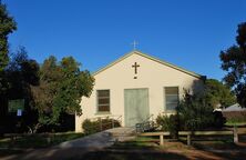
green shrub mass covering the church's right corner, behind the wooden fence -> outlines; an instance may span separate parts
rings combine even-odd
[[[213,112],[217,104],[223,107],[235,102],[230,90],[217,80],[206,80],[204,92],[191,94],[185,91],[184,99],[177,107],[177,114],[158,116],[156,123],[162,130],[170,131],[174,137],[178,130],[204,130],[222,128],[225,123],[221,112]]]

